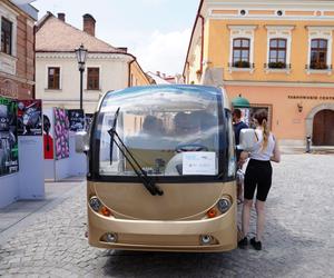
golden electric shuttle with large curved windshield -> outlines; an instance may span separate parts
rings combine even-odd
[[[224,90],[176,85],[109,91],[89,138],[91,246],[236,248],[235,146]],[[77,148],[85,149],[84,141],[78,136]]]

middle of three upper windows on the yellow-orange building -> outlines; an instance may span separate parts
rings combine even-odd
[[[269,41],[269,69],[286,68],[286,39],[271,39]]]

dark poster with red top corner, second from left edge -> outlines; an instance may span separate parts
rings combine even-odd
[[[18,101],[18,136],[41,136],[41,100]]]

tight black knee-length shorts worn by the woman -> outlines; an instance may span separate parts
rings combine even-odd
[[[272,186],[272,175],[271,161],[250,159],[245,173],[244,198],[253,200],[257,188],[256,199],[265,201]]]

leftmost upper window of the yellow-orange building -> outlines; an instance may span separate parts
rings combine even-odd
[[[233,67],[249,68],[249,39],[237,38],[233,40]]]

